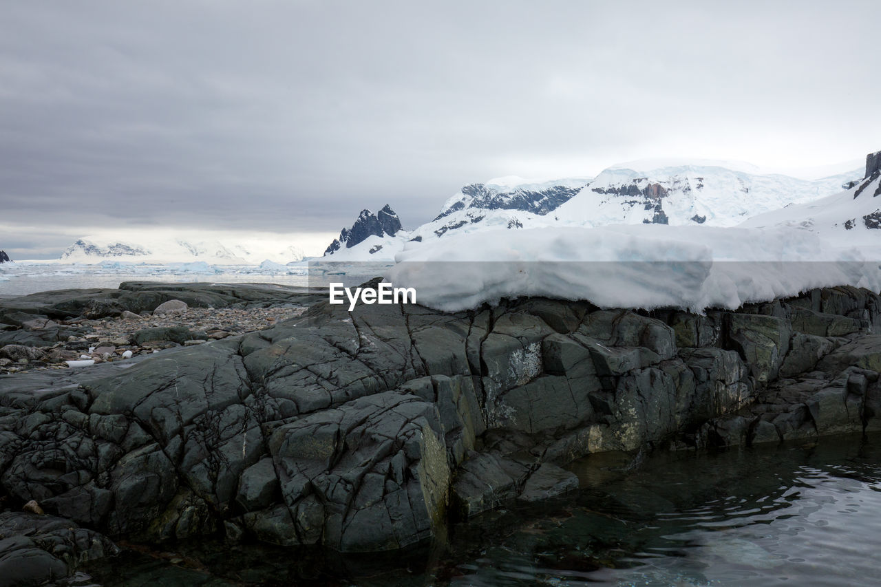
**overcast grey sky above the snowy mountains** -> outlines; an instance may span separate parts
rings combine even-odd
[[[881,3],[0,0],[0,249],[405,228],[463,185],[881,149]],[[148,238],[148,237],[143,237]]]

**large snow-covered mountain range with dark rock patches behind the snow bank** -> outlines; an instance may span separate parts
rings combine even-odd
[[[746,163],[713,160],[634,161],[593,178],[503,177],[465,186],[448,198],[435,219],[411,231],[374,231],[362,241],[350,241],[346,249],[331,243],[325,255],[346,261],[392,260],[413,246],[408,242],[428,245],[454,234],[500,228],[733,227],[765,212],[836,193],[861,177],[862,170],[856,168],[804,180],[768,174]]]

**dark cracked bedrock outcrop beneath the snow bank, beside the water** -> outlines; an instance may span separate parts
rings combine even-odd
[[[0,379],[0,483],[114,538],[391,550],[577,487],[593,452],[881,429],[879,310],[852,287],[706,316],[322,302],[79,386]]]

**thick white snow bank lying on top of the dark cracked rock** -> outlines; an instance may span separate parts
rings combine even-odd
[[[792,227],[662,225],[495,230],[411,247],[385,271],[446,311],[501,298],[588,300],[601,308],[740,307],[813,287],[881,289],[876,261]]]

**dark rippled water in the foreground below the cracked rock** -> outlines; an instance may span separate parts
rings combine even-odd
[[[881,583],[881,436],[630,460],[586,458],[572,466],[580,491],[488,512],[403,554],[203,541],[102,562],[78,584]]]

